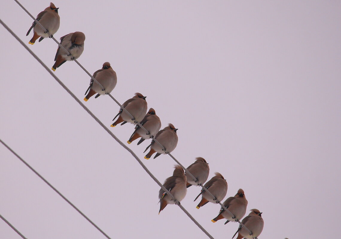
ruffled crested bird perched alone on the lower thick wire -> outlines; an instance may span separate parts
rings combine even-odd
[[[180,165],[175,165],[173,176],[168,177],[163,186],[173,195],[175,200],[180,202],[187,193],[186,175]],[[160,212],[167,206],[167,204],[175,204],[175,201],[161,188],[159,191]]]

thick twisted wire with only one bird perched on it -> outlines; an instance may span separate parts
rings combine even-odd
[[[16,1],[16,0],[15,0]],[[80,104],[81,107],[83,107],[86,112],[91,115],[92,118],[95,119],[102,127],[103,129],[110,134],[123,148],[128,150],[134,158],[138,161],[138,163],[143,167],[143,169],[149,174],[149,176],[172,198],[172,200],[185,212],[185,214],[211,239],[214,239],[206,230],[205,228],[200,225],[193,216],[180,204],[179,201],[177,201],[174,196],[157,180],[157,178],[147,169],[147,167],[142,163],[142,161],[137,157],[137,155],[125,144],[123,144],[78,98],[61,82],[55,74],[53,74],[49,68],[41,61],[41,59],[35,55],[25,44],[21,39],[0,19],[0,23],[6,28],[19,42],[21,45],[25,47],[25,49],[53,76],[53,78],[74,98],[78,104]]]

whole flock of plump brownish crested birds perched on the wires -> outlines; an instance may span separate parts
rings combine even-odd
[[[53,3],[50,3],[49,7],[46,7],[44,11],[38,14],[36,20],[39,21],[47,31],[44,31],[39,24],[36,24],[34,21],[26,35],[28,36],[33,29],[34,34],[32,39],[29,41],[29,44],[33,45],[39,37],[39,42],[44,38],[49,37],[48,33],[53,35],[57,32],[60,24],[58,9],[59,8]],[[52,70],[55,71],[66,61],[73,61],[74,59],[77,59],[83,53],[84,41],[85,35],[83,32],[73,32],[62,36],[60,38],[60,44],[67,51],[69,51],[71,55],[68,55],[63,49],[58,47],[55,56],[55,64],[53,65]],[[93,74],[93,78],[95,78],[105,90],[103,90],[98,83],[91,79],[90,86],[85,92],[85,94],[87,94],[84,98],[85,101],[88,101],[90,97],[96,93],[97,95],[95,98],[99,97],[100,95],[110,93],[115,88],[117,83],[116,72],[110,66],[109,62],[105,62],[102,69],[97,70]],[[149,152],[145,156],[145,159],[149,159],[154,153],[156,153],[154,156],[154,158],[156,158],[160,154],[168,154],[175,149],[178,143],[178,136],[176,134],[178,129],[176,129],[173,124],[169,123],[167,127],[165,127],[163,130],[160,130],[161,121],[156,115],[155,110],[150,108],[147,112],[146,96],[143,96],[141,93],[135,93],[135,96],[125,101],[122,104],[122,107],[125,108],[134,117],[134,119],[132,119],[122,108],[120,108],[119,113],[115,116],[113,121],[116,119],[116,117],[118,118],[112,125],[110,125],[111,127],[115,127],[119,123],[123,125],[129,122],[136,125],[136,122],[140,122],[140,124],[143,125],[143,127],[149,132],[149,134],[147,134],[139,125],[136,125],[134,133],[128,140],[128,144],[140,138],[137,143],[137,145],[139,145],[145,139],[149,139],[151,136],[155,135],[154,138],[157,139],[157,141],[164,148],[163,149],[158,143],[155,143],[153,139],[144,151],[146,152],[150,148]],[[207,181],[209,166],[204,158],[197,157],[195,162],[187,168],[187,171],[191,173],[196,180],[192,179],[190,176],[187,176],[187,173],[184,173],[182,167],[176,165],[173,176],[168,177],[163,184],[163,186],[170,193],[172,193],[174,198],[179,202],[185,197],[188,187],[192,185],[200,186]],[[201,201],[196,206],[197,209],[204,206],[208,202],[217,203],[222,201],[227,193],[227,182],[223,175],[218,172],[216,172],[215,176],[205,183],[204,187],[209,189],[210,193],[214,195],[215,198],[212,198],[204,189],[202,189],[194,200],[196,201],[200,195],[202,196]],[[167,204],[175,204],[173,199],[167,195],[162,188],[159,191],[159,199],[159,214],[167,206]],[[234,217],[232,217],[227,211],[225,211],[225,209],[223,209],[223,207],[221,207],[218,216],[212,219],[212,222],[217,222],[220,219],[226,219],[226,224],[229,221],[240,220],[246,213],[248,201],[245,198],[244,191],[239,189],[236,195],[226,199],[223,205],[234,215]],[[245,217],[241,223],[252,232],[252,235],[250,235],[244,227],[239,225],[239,228],[235,233],[235,235],[238,233],[237,239],[251,239],[258,237],[261,234],[264,226],[262,212],[260,212],[258,209],[251,209],[250,214]],[[234,238],[235,235],[232,238]]]

